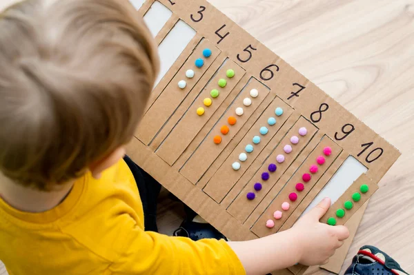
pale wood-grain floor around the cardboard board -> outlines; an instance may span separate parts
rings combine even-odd
[[[365,244],[414,274],[414,0],[210,2],[402,152],[368,205],[342,274]],[[184,214],[166,192],[160,201],[159,229],[171,234]]]

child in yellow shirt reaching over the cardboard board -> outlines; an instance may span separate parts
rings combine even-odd
[[[124,145],[159,64],[128,1],[26,0],[0,16],[0,260],[9,274],[266,274],[326,263],[348,238],[319,223],[253,241],[144,231]]]

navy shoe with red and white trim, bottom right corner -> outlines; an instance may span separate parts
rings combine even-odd
[[[359,249],[345,275],[408,275],[393,258],[377,247]]]

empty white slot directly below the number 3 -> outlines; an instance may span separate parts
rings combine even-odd
[[[174,28],[168,32],[166,38],[158,46],[161,69],[155,81],[155,86],[157,86],[159,81],[170,70],[172,64],[178,59],[191,39],[195,37],[195,34],[195,30],[182,20],[179,20]]]

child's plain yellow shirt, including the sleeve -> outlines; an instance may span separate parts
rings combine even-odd
[[[144,232],[124,161],[99,180],[83,176],[47,212],[20,212],[0,200],[0,260],[10,275],[245,274],[225,241]]]

